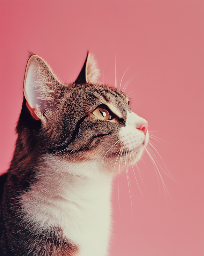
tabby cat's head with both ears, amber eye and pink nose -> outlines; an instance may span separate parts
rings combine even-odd
[[[130,109],[127,95],[99,82],[90,53],[71,84],[60,82],[42,58],[32,55],[23,92],[17,131],[39,156],[97,162],[112,172],[134,164],[147,145],[148,122]]]

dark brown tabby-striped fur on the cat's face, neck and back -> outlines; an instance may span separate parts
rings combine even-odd
[[[37,63],[42,60],[33,56]],[[19,196],[35,182],[41,157],[58,154],[67,160],[81,162],[97,159],[116,142],[119,127],[125,126],[127,97],[108,86],[87,84],[85,64],[73,84],[60,83],[52,71],[45,67],[51,91],[48,108],[42,120],[35,120],[24,97],[16,131],[18,139],[6,176],[2,177],[4,192],[1,206],[0,255],[4,256],[74,256],[78,247],[63,238],[62,230],[44,230],[38,234],[35,228],[22,220]],[[92,112],[100,104],[118,102],[122,117],[104,122],[93,118]],[[126,109],[123,105],[126,104]],[[113,136],[110,136],[113,135]],[[120,148],[116,146],[115,151]],[[94,153],[93,153],[94,152]],[[113,152],[108,153],[109,155]],[[113,156],[114,157],[114,156]],[[6,181],[5,181],[6,179]],[[4,184],[5,182],[5,184]],[[35,232],[36,231],[36,232]]]

